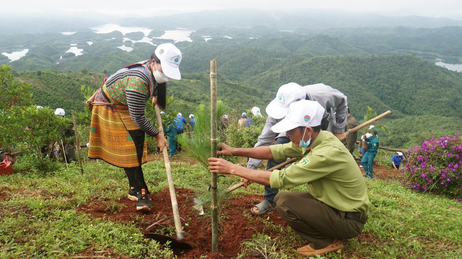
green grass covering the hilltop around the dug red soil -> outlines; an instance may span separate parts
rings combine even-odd
[[[210,175],[199,165],[171,163],[177,187],[206,193]],[[148,241],[137,224],[120,223],[80,213],[79,205],[91,199],[108,198],[109,211],[126,195],[128,181],[122,169],[104,162],[87,162],[85,173],[73,164],[51,173],[25,171],[1,176],[0,190],[0,258],[77,258],[105,256],[112,258],[172,258],[170,250]],[[143,166],[146,181],[156,193],[168,186],[162,161]],[[219,177],[223,190],[237,177]],[[345,253],[328,258],[462,258],[462,204],[431,194],[415,193],[397,182],[366,180],[371,201],[370,220],[363,234],[346,242]],[[8,189],[5,189],[8,188]],[[300,186],[292,191],[306,190]],[[231,193],[263,193],[252,184]],[[114,202],[111,202],[114,201]],[[243,217],[252,220],[248,211]],[[269,237],[263,233],[242,245],[241,258],[297,258],[295,249],[304,242],[292,231],[273,223],[265,229],[280,233]]]

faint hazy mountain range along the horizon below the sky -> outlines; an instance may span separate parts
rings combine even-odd
[[[252,27],[265,25],[278,30],[325,30],[332,27],[395,27],[437,28],[462,26],[461,20],[422,16],[383,16],[373,13],[341,12],[332,10],[262,11],[249,9],[227,9],[174,14],[166,17],[118,18],[93,12],[85,18],[59,17],[33,18],[0,17],[1,33],[46,33],[76,31],[105,23],[123,26],[142,26],[151,29],[172,29],[176,27],[201,28],[213,26]],[[88,18],[91,16],[91,18]]]

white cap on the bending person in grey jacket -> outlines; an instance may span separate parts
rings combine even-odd
[[[266,113],[274,119],[283,118],[289,110],[289,105],[292,102],[304,100],[305,96],[306,91],[301,85],[296,83],[284,84],[279,88],[276,98],[266,107]]]

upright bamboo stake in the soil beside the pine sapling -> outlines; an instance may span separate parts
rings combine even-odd
[[[217,156],[217,60],[210,60],[210,131],[212,141],[213,157]],[[212,194],[212,202],[210,208],[212,210],[212,252],[218,251],[218,201],[217,201],[217,175],[210,173],[210,190]]]

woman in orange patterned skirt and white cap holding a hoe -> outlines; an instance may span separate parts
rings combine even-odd
[[[137,211],[152,208],[141,168],[147,162],[146,134],[156,138],[160,150],[168,147],[164,134],[146,118],[146,101],[152,97],[152,106],[165,109],[165,83],[181,78],[181,59],[175,45],[159,44],[149,60],[112,74],[88,100],[92,105],[88,157],[125,170],[130,185],[128,199],[137,201]]]

